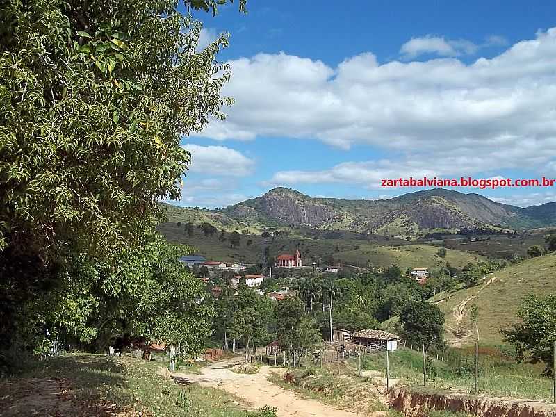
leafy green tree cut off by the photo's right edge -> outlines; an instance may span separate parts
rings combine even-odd
[[[556,295],[530,295],[518,309],[523,320],[504,331],[505,341],[516,348],[520,360],[543,362],[553,372],[553,341],[556,340]]]

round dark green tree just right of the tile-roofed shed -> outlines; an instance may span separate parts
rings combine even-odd
[[[404,338],[413,345],[430,347],[443,346],[444,315],[439,307],[428,302],[411,302],[400,314]]]

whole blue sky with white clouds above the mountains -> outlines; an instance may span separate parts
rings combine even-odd
[[[382,178],[556,178],[556,3],[254,1],[204,22],[231,33],[224,122],[183,138],[180,205],[220,207],[274,186],[389,198]],[[555,201],[554,188],[477,190]]]

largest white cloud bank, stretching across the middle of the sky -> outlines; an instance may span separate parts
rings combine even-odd
[[[258,54],[230,61],[224,94],[236,105],[203,135],[312,138],[340,149],[364,143],[401,154],[391,161],[401,172],[407,164],[454,174],[541,170],[556,163],[555,61],[556,28],[469,65],[455,58],[380,64],[366,53],[333,68],[284,53]],[[336,180],[340,170],[325,177]]]

